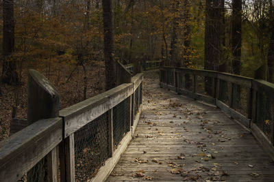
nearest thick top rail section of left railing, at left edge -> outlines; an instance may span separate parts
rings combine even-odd
[[[62,119],[42,119],[0,142],[0,181],[16,181],[62,140]]]

